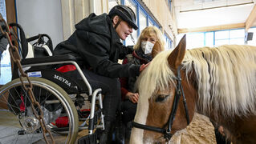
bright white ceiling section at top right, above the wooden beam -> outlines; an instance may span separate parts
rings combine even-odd
[[[173,0],[173,3],[178,30],[241,26],[239,24],[245,24],[252,10],[256,10],[255,0]]]

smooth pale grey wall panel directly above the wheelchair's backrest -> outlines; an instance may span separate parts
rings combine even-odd
[[[63,41],[61,0],[16,0],[17,19],[26,37],[48,34],[54,47]]]

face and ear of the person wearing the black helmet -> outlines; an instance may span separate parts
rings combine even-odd
[[[116,26],[119,19],[120,18],[118,16],[113,18],[114,26]],[[121,20],[120,24],[116,27],[116,33],[118,34],[119,38],[125,40],[128,35],[132,34],[132,26],[129,26],[128,22]]]

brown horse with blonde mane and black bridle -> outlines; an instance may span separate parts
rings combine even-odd
[[[168,143],[195,112],[223,126],[234,144],[256,143],[256,46],[186,50],[185,39],[140,74],[130,143]]]

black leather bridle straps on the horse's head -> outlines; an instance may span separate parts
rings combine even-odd
[[[164,138],[165,140],[168,142],[173,134],[171,134],[171,130],[172,130],[172,126],[173,126],[173,121],[177,112],[177,106],[178,103],[180,101],[181,95],[183,96],[183,104],[185,107],[185,116],[187,119],[187,125],[189,125],[189,110],[188,110],[188,106],[187,106],[187,102],[186,102],[186,98],[185,98],[185,94],[181,85],[181,66],[178,66],[177,68],[177,89],[175,92],[175,96],[174,96],[174,100],[173,100],[173,107],[172,107],[172,111],[171,114],[169,116],[169,121],[165,124],[165,126],[167,126],[167,128],[160,128],[160,127],[155,127],[155,126],[147,126],[147,125],[143,125],[137,122],[132,122],[132,127],[136,127],[139,129],[144,129],[144,130],[151,130],[151,131],[155,131],[161,134],[164,134]]]

